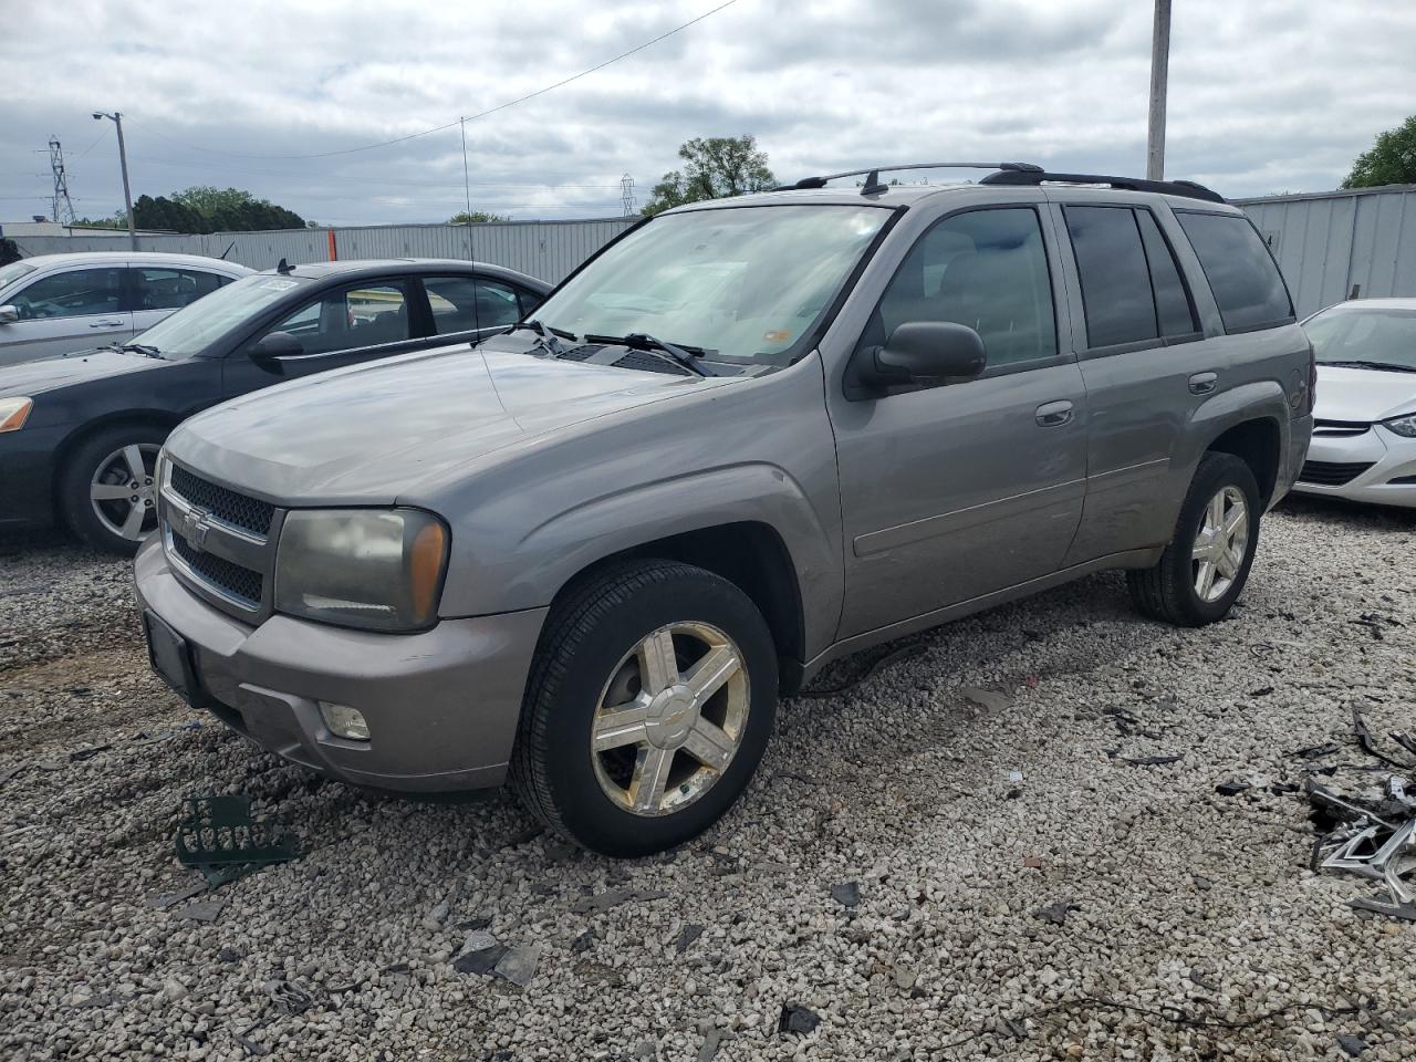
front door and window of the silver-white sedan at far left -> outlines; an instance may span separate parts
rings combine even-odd
[[[10,296],[20,319],[0,326],[0,364],[119,343],[133,334],[123,266],[45,273]]]

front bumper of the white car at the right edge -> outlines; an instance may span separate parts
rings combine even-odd
[[[1359,435],[1314,435],[1304,472],[1293,490],[1378,506],[1416,507],[1416,439],[1381,425]]]

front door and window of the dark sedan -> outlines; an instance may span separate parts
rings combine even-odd
[[[224,387],[239,395],[282,379],[406,354],[432,343],[416,279],[398,276],[326,289],[269,327],[258,330],[225,360]],[[253,358],[272,331],[300,340],[299,354]]]

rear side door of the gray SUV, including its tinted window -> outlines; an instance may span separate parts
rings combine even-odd
[[[1054,197],[1092,413],[1072,565],[1170,541],[1191,473],[1181,443],[1214,382],[1215,350],[1164,204]]]

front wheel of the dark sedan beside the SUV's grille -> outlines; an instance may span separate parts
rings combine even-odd
[[[157,453],[167,430],[115,425],[78,445],[59,473],[69,528],[95,549],[132,556],[157,527]]]

